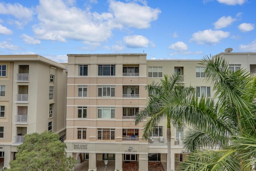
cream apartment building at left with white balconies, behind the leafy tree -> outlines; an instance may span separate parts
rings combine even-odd
[[[0,55],[0,160],[15,158],[25,134],[66,136],[66,68],[40,55]],[[2,164],[2,163],[1,163]]]

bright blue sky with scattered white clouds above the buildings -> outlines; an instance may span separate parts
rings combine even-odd
[[[0,0],[0,55],[256,52],[256,0]]]

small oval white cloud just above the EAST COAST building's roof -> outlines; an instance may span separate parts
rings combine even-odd
[[[127,47],[140,48],[148,47],[149,40],[142,35],[124,36],[124,43]]]

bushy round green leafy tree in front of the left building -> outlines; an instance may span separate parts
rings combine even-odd
[[[10,171],[74,171],[77,161],[67,157],[65,149],[54,132],[26,134],[16,159],[10,162]]]

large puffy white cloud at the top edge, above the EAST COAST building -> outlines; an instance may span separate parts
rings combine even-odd
[[[150,22],[157,20],[161,10],[150,8],[149,6],[141,6],[130,2],[108,1],[110,12],[114,13],[115,22],[124,26],[145,29],[150,27]]]

